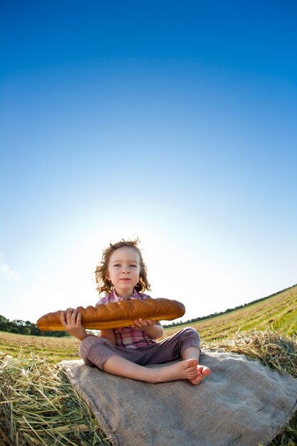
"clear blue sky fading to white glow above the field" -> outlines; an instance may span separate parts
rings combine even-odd
[[[297,283],[296,1],[1,1],[0,314],[137,234],[184,320]]]

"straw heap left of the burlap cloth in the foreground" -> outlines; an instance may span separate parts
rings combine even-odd
[[[0,445],[110,445],[60,365],[0,353]]]

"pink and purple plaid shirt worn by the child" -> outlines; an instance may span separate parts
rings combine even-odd
[[[138,301],[143,301],[143,299],[152,299],[147,294],[138,293],[135,289],[133,291],[132,296],[129,299],[137,299]],[[123,301],[123,297],[118,296],[115,291],[111,291],[110,294],[104,296],[98,304],[110,304],[110,302],[119,302]],[[145,333],[142,330],[135,330],[132,327],[124,327],[124,328],[115,328],[113,330],[115,333],[115,344],[119,347],[125,348],[139,348],[145,347],[150,344],[154,344],[157,341]]]

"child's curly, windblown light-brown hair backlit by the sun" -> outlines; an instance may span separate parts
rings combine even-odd
[[[150,291],[150,283],[147,280],[147,266],[143,261],[140,249],[137,247],[137,244],[139,243],[140,239],[138,239],[138,237],[136,240],[121,239],[120,242],[114,244],[110,243],[108,248],[103,249],[101,262],[100,264],[97,265],[97,268],[95,269],[95,281],[98,284],[96,290],[99,291],[99,294],[103,293],[104,291],[106,293],[110,293],[110,291],[112,291],[115,288],[112,282],[108,280],[108,278],[106,277],[106,274],[108,273],[108,263],[110,261],[111,254],[113,254],[113,252],[115,252],[116,249],[123,247],[129,247],[135,249],[138,255],[140,256],[140,276],[139,276],[139,281],[135,286],[136,291],[140,293],[145,290]]]

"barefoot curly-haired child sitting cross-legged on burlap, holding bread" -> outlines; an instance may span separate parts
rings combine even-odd
[[[108,293],[98,304],[118,302],[123,299],[151,299],[142,291],[150,290],[147,268],[137,247],[139,240],[110,244],[103,251],[101,264],[95,271],[98,291]],[[100,370],[147,383],[187,379],[199,384],[211,372],[199,365],[200,338],[194,328],[183,328],[160,343],[163,328],[160,322],[138,319],[132,327],[105,329],[100,336],[89,334],[81,325],[77,310],[68,308],[61,313],[61,322],[71,335],[80,339],[80,357],[87,365]],[[181,358],[182,361],[160,368],[144,365],[160,364]]]

